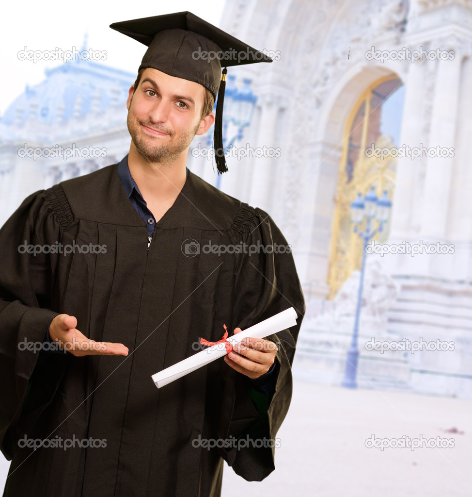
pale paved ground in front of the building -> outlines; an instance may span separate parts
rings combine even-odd
[[[464,433],[443,430],[456,427]],[[453,448],[366,448],[371,438],[453,438]],[[350,391],[297,381],[275,471],[246,482],[226,467],[223,497],[470,497],[472,401]],[[0,488],[8,462],[0,463]]]

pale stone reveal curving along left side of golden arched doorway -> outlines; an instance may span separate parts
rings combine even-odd
[[[315,130],[318,139],[312,144],[309,158],[313,168],[311,184],[305,188],[303,200],[305,209],[314,213],[303,234],[303,247],[309,251],[304,267],[305,280],[313,282],[311,288],[308,285],[307,293],[314,297],[326,298],[331,293],[329,268],[336,238],[337,197],[339,185],[343,181],[340,164],[344,160],[343,151],[353,109],[356,105],[358,107],[369,88],[391,78],[398,76],[390,68],[359,64],[342,75],[324,101],[321,119]],[[364,164],[364,167],[372,170],[375,164],[371,161],[370,165]],[[349,264],[352,266],[351,262]],[[349,274],[344,275],[342,281]]]

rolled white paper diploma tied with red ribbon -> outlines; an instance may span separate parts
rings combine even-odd
[[[296,324],[297,313],[293,307],[290,307],[285,311],[275,314],[275,316],[261,321],[261,323],[258,323],[257,325],[250,326],[249,328],[246,328],[246,330],[229,336],[227,341],[234,346],[236,343],[240,343],[243,338],[265,338],[266,336],[277,333],[278,331],[286,330]],[[211,345],[205,350],[187,357],[187,359],[184,359],[173,366],[169,366],[168,368],[159,371],[159,373],[153,374],[151,377],[152,381],[157,388],[172,383],[174,380],[182,378],[182,376],[226,355],[226,348],[224,345],[224,343]]]

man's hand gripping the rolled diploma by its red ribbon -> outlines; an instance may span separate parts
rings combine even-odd
[[[234,334],[240,331],[241,328],[236,328]],[[226,364],[255,380],[270,370],[278,349],[270,340],[244,338],[241,343],[233,346],[233,350],[224,356]]]

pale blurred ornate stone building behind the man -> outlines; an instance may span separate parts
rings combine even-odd
[[[374,186],[393,202],[376,242],[423,248],[368,256],[359,385],[471,398],[472,1],[237,0],[227,3],[221,27],[274,58],[228,73],[240,87],[250,79],[257,96],[235,145],[279,148],[280,157],[228,158],[221,189],[270,213],[292,245],[307,300],[295,374],[341,381],[362,256],[349,206]],[[433,59],[432,51],[448,56]],[[27,194],[124,157],[134,79],[70,61],[12,103],[0,122],[1,222]],[[106,153],[33,160],[19,157],[25,143]],[[197,137],[199,145],[207,137]],[[453,153],[369,152],[406,146]],[[188,164],[215,183],[209,161],[191,153]],[[453,251],[426,253],[437,244]],[[364,345],[373,337],[453,342],[453,350],[380,353]]]

